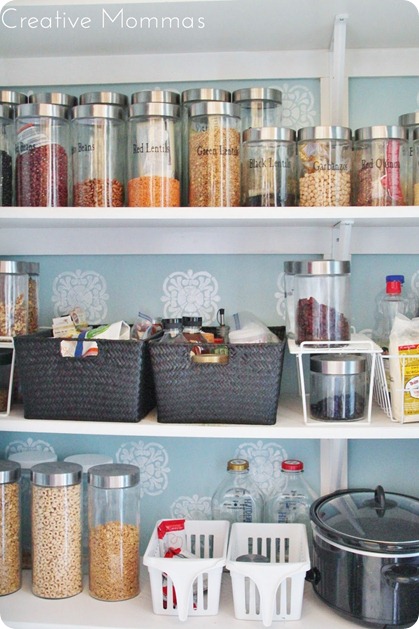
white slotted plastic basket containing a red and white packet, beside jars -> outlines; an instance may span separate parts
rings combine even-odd
[[[160,556],[157,522],[144,554],[150,575],[155,614],[211,616],[218,613],[230,523],[225,520],[186,520],[185,550],[197,559]]]

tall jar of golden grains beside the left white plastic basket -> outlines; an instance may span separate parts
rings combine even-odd
[[[124,601],[140,591],[140,470],[95,465],[88,471],[89,591]]]

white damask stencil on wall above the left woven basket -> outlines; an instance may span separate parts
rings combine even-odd
[[[109,299],[105,278],[96,271],[65,271],[52,286],[52,303],[56,316],[68,314],[79,307],[91,324],[106,321]]]

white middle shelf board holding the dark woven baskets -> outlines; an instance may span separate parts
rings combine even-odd
[[[371,423],[328,422],[304,423],[299,398],[280,396],[277,421],[260,424],[166,424],[157,421],[152,411],[138,423],[89,422],[69,420],[24,419],[22,409],[12,409],[0,418],[0,432],[55,433],[73,435],[185,437],[236,439],[418,439],[419,423],[400,424],[391,421],[374,406]]]

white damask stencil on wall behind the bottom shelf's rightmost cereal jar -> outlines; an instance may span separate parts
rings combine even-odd
[[[160,443],[129,441],[116,453],[118,463],[129,463],[140,468],[141,496],[159,496],[168,485],[169,456]]]

